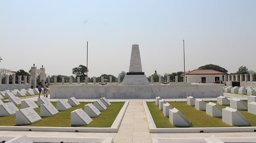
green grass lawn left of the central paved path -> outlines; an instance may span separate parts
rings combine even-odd
[[[56,107],[56,102],[51,103]],[[57,115],[43,117],[41,121],[22,126],[71,127],[71,112],[79,108],[84,110],[84,105],[88,103],[91,102],[80,102],[80,105],[77,107],[72,107],[66,111],[59,111]],[[77,127],[111,127],[124,103],[125,102],[111,102],[111,106],[108,107],[106,111],[101,111],[101,115],[99,115],[99,117],[92,118],[93,121],[89,125]],[[17,105],[16,107],[18,109],[21,108],[20,105]],[[35,109],[35,111],[40,115],[40,107]],[[15,126],[15,115],[0,117],[0,126]]]

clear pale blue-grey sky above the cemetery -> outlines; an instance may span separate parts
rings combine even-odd
[[[0,68],[52,75],[128,72],[139,44],[146,76],[217,64],[256,70],[256,0],[0,0]]]

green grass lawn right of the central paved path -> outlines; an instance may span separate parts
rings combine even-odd
[[[217,103],[217,101],[212,101],[213,103]],[[222,122],[222,118],[220,117],[212,117],[207,115],[205,111],[199,111],[195,109],[195,106],[189,106],[184,102],[168,102],[172,107],[178,109],[191,123],[191,127],[232,127],[224,122]],[[209,101],[206,101],[209,103]],[[247,101],[244,101],[247,104]],[[154,123],[157,128],[177,128],[177,127],[187,127],[187,126],[173,126],[172,123],[169,122],[169,117],[165,117],[163,115],[163,111],[161,111],[155,102],[147,102],[148,109],[151,112]],[[219,105],[221,108],[226,108],[229,106]],[[244,115],[247,120],[250,121],[251,126],[256,126],[256,115],[248,113],[246,111],[239,110],[241,114]],[[190,126],[189,126],[190,127]]]

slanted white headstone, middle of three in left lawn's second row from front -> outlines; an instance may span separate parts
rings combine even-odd
[[[52,103],[45,103],[40,105],[41,117],[49,117],[58,114],[58,110],[52,105]]]

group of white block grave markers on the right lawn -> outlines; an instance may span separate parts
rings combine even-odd
[[[227,105],[227,98],[220,96],[217,99],[218,104],[222,104],[225,101]],[[248,97],[248,112],[256,115],[256,96]],[[229,100],[228,100],[229,101]],[[229,102],[228,102],[229,103]],[[249,126],[250,121],[248,121],[239,111],[239,108],[244,107],[244,102],[239,99],[230,100],[232,106],[221,109],[217,104],[209,102],[206,104],[202,99],[195,99],[192,96],[187,97],[187,104],[190,106],[195,106],[195,109],[205,110],[206,113],[212,117],[222,117],[222,121],[232,126]],[[173,126],[192,126],[192,123],[176,108],[172,107],[164,99],[159,96],[156,97],[156,105],[159,106],[160,110],[163,110],[163,115],[169,117],[169,121]],[[229,104],[228,104],[229,105]],[[246,105],[245,105],[246,106]],[[247,106],[246,106],[247,107]]]

